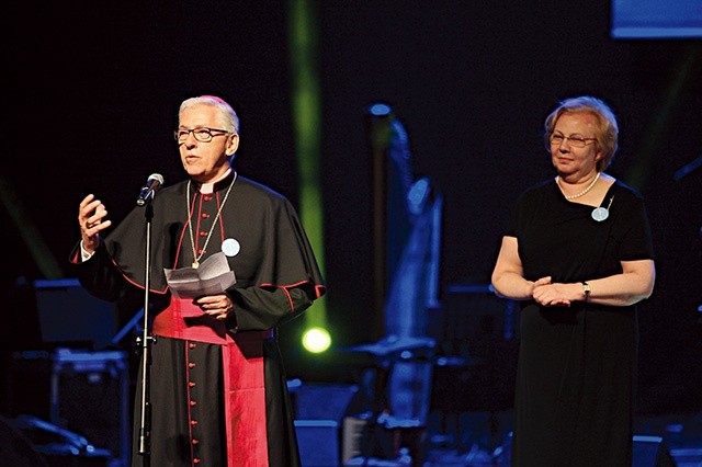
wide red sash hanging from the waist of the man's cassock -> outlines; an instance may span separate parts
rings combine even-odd
[[[185,318],[197,318],[191,324]],[[191,321],[192,322],[192,321]],[[191,299],[171,298],[154,319],[156,335],[222,345],[228,467],[268,467],[263,340],[272,331],[227,331]]]

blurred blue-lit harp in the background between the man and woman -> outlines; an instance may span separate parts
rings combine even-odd
[[[373,312],[384,335],[353,351],[375,361],[370,431],[401,437],[394,444],[417,460],[419,446],[412,440],[427,428],[432,389],[435,342],[429,314],[439,307],[443,198],[429,178],[415,176],[407,132],[388,105],[369,106],[366,132],[373,180]],[[364,445],[359,452],[373,455],[373,442]],[[381,451],[388,458],[399,454],[387,445]]]

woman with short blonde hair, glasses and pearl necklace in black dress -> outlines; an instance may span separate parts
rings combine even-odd
[[[618,123],[592,96],[545,121],[557,175],[517,202],[492,272],[521,300],[514,466],[632,463],[637,319],[655,282],[641,195],[604,173]]]

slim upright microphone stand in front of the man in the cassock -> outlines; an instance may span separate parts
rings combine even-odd
[[[151,436],[151,402],[149,397],[150,386],[150,343],[155,340],[149,335],[149,287],[150,287],[150,258],[151,258],[151,219],[154,207],[145,204],[144,217],[146,218],[146,251],[145,251],[145,278],[144,278],[144,329],[138,339],[141,346],[141,419],[139,425],[138,453],[143,458],[144,467],[150,465],[150,436]]]

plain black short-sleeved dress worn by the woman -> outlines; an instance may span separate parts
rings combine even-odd
[[[609,217],[597,221],[553,180],[526,191],[507,231],[524,277],[589,281],[653,259],[642,197],[618,181],[601,206]],[[635,306],[522,303],[512,465],[631,465],[637,332]]]

